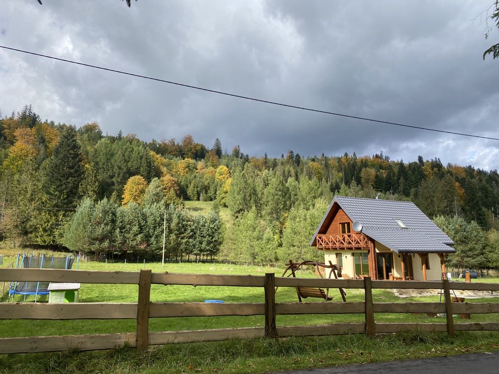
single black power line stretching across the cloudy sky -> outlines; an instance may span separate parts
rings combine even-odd
[[[415,126],[415,125],[405,125],[405,124],[401,124],[401,123],[397,123],[397,122],[381,121],[381,120],[375,120],[373,118],[359,117],[359,116],[353,116],[353,115],[349,115],[349,114],[328,112],[328,111],[325,111],[325,110],[312,109],[312,108],[300,107],[300,106],[296,106],[296,105],[278,103],[278,102],[275,102],[275,101],[262,100],[262,99],[257,99],[257,98],[254,98],[254,97],[242,96],[242,95],[232,94],[232,93],[228,93],[228,92],[224,92],[224,91],[211,90],[211,89],[208,89],[208,88],[203,88],[203,87],[198,87],[198,86],[192,86],[192,85],[189,85],[189,84],[184,84],[184,83],[179,83],[179,82],[173,82],[173,81],[169,81],[169,80],[165,80],[165,79],[148,77],[146,75],[128,73],[126,71],[121,71],[121,70],[116,70],[116,69],[110,69],[110,68],[107,68],[107,67],[85,64],[85,63],[82,63],[82,62],[67,60],[67,59],[64,59],[64,58],[53,57],[53,56],[48,56],[48,55],[45,55],[45,54],[40,54],[40,53],[25,51],[25,50],[22,50],[22,49],[16,49],[16,48],[11,48],[11,47],[6,47],[4,45],[0,45],[0,48],[9,49],[9,50],[16,51],[16,52],[27,53],[27,54],[31,54],[31,55],[34,55],[34,56],[49,58],[49,59],[52,59],[52,60],[68,62],[68,63],[75,64],[75,65],[81,65],[81,66],[91,67],[91,68],[94,68],[94,69],[111,71],[113,73],[130,75],[132,77],[154,80],[154,81],[157,81],[157,82],[173,84],[173,85],[176,85],[176,86],[181,86],[181,87],[186,87],[186,88],[192,88],[192,89],[195,89],[195,90],[216,93],[216,94],[219,94],[219,95],[236,97],[236,98],[239,98],[239,99],[256,101],[256,102],[259,102],[259,103],[277,105],[277,106],[286,107],[286,108],[300,109],[300,110],[305,110],[305,111],[308,111],[308,112],[329,114],[329,115],[333,115],[333,116],[346,117],[346,118],[352,118],[352,119],[357,119],[357,120],[362,120],[362,121],[369,121],[369,122],[376,122],[376,123],[383,123],[383,124],[386,124],[386,125],[408,127],[408,128],[412,128],[412,129],[418,129],[418,130],[434,131],[434,132],[437,132],[437,133],[467,136],[467,137],[471,137],[471,138],[499,140],[499,138],[492,138],[492,137],[488,137],[488,136],[480,136],[480,135],[474,135],[474,134],[465,134],[465,133],[458,133],[458,132],[454,132],[454,131],[446,131],[446,130],[439,130],[439,129],[430,129],[428,127],[421,127],[421,126]]]

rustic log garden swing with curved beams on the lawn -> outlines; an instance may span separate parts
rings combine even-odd
[[[296,278],[296,271],[302,266],[313,266],[315,268],[315,273],[320,275],[321,278],[324,278],[326,274],[326,269],[329,270],[328,279],[331,279],[331,275],[334,275],[335,279],[341,277],[341,266],[337,264],[331,263],[329,261],[329,265],[323,264],[317,261],[301,261],[301,262],[293,262],[289,260],[289,264],[286,266],[286,270],[282,273],[282,276],[285,276],[288,270],[291,270],[291,274],[288,274],[287,277],[292,276]],[[324,273],[324,276],[322,275]],[[342,288],[338,288],[340,291],[341,298],[344,302],[346,302],[346,292]],[[277,290],[277,287],[275,288]],[[319,299],[324,299],[325,301],[332,300],[332,296],[329,296],[329,288],[326,288],[325,292],[322,288],[314,288],[314,287],[296,287],[296,294],[298,295],[298,301],[301,303],[301,299],[306,299],[308,297],[316,297]]]

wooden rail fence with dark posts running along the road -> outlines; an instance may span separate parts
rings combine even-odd
[[[273,273],[251,275],[199,275],[139,272],[104,272],[51,269],[0,269],[2,281],[52,281],[75,283],[137,284],[137,303],[0,303],[0,319],[134,319],[136,333],[1,338],[0,354],[52,352],[64,350],[99,350],[123,345],[147,350],[148,345],[248,339],[256,337],[320,336],[396,333],[403,330],[447,332],[479,330],[499,331],[499,323],[459,323],[453,313],[499,313],[499,303],[454,303],[451,290],[499,291],[499,284],[382,281],[353,279],[281,278]],[[263,303],[151,303],[151,284],[263,287]],[[364,302],[276,303],[275,287],[329,287],[363,289]],[[373,289],[442,289],[445,303],[374,303]],[[321,326],[276,326],[276,315],[345,314],[365,315],[365,323],[336,323]],[[447,323],[376,323],[375,313],[445,313]],[[264,315],[265,326],[237,329],[149,332],[149,318],[199,316]]]

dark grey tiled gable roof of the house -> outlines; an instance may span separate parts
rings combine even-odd
[[[413,202],[360,197],[335,196],[310,245],[334,203],[345,211],[352,221],[362,224],[362,232],[400,252],[455,252],[454,242]],[[407,228],[401,228],[400,219]]]

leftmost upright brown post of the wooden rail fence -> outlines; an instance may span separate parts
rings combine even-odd
[[[151,270],[141,270],[139,275],[139,300],[137,302],[137,352],[147,351],[149,345],[149,300],[151,294]]]

